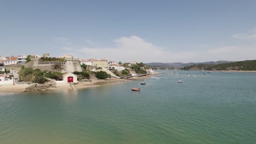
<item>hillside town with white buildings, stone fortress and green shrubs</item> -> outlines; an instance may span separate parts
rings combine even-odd
[[[135,61],[121,63],[107,59],[79,59],[71,55],[0,56],[0,85],[20,83],[69,83],[92,80],[129,79],[154,74],[147,65]],[[37,85],[37,86],[39,86]],[[75,87],[75,86],[74,86]],[[40,89],[39,89],[40,90]]]

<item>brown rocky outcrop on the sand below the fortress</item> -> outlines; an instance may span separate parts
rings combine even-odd
[[[44,84],[35,83],[29,87],[26,87],[24,92],[48,91],[48,88],[50,87],[56,87],[56,82],[49,81]]]

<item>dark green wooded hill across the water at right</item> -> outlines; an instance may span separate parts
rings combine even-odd
[[[256,70],[256,60],[229,62],[219,64],[195,64],[186,66],[184,70]]]

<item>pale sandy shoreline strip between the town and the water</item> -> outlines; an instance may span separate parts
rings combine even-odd
[[[50,87],[47,91],[36,91],[37,92],[57,92],[57,91],[77,91],[79,89],[85,89],[85,88],[91,88],[91,87],[98,87],[98,86],[104,86],[104,85],[112,85],[115,83],[125,83],[125,82],[131,82],[133,80],[145,80],[148,79],[149,77],[152,77],[156,74],[150,74],[147,76],[141,76],[141,77],[133,77],[133,79],[118,79],[118,78],[113,78],[113,79],[106,79],[106,80],[98,80],[94,79],[91,82],[79,82],[78,85],[70,85],[69,83],[57,83],[56,87]],[[31,86],[28,84],[5,84],[5,85],[0,85],[0,95],[3,93],[4,95],[7,93],[30,93],[30,92],[24,92],[25,88]],[[75,87],[74,87],[75,86]]]

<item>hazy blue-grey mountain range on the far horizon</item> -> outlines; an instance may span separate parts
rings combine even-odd
[[[194,64],[220,64],[220,63],[231,63],[230,61],[216,61],[216,62],[201,62],[201,63],[146,63],[148,66],[168,66],[168,67],[187,67]]]

